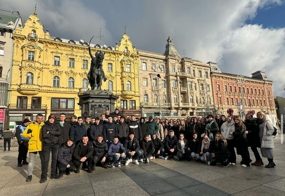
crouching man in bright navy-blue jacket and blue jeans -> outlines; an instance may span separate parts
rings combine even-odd
[[[110,166],[111,168],[115,168],[114,164],[120,168],[121,161],[126,158],[126,149],[124,148],[123,144],[119,142],[118,136],[115,136],[112,143],[108,148],[108,156],[111,160]]]

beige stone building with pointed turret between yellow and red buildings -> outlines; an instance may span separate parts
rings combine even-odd
[[[142,116],[197,116],[212,103],[211,62],[181,58],[170,36],[164,54],[138,52]]]

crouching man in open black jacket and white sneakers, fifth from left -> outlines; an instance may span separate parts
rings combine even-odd
[[[126,164],[133,162],[139,165],[138,159],[141,156],[142,152],[140,151],[140,144],[135,134],[133,132],[129,133],[129,137],[125,140],[124,148],[126,149]]]

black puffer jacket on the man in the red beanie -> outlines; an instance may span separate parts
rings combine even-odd
[[[48,133],[47,133],[48,132]],[[59,138],[62,134],[62,131],[59,127],[58,122],[54,122],[53,124],[46,121],[44,125],[42,126],[42,138],[44,139],[43,141],[43,146],[46,145],[59,145]]]

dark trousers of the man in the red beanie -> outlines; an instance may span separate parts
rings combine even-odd
[[[48,175],[48,162],[50,161],[50,152],[52,153],[52,165],[51,165],[51,175],[56,175],[56,162],[58,154],[58,144],[43,146],[44,152],[44,166],[42,168],[42,176],[46,177]]]

